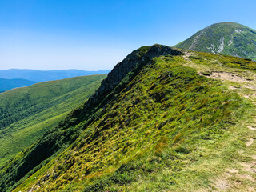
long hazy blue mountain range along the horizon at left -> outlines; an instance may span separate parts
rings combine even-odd
[[[0,78],[22,78],[32,82],[47,82],[64,78],[73,78],[92,74],[108,74],[110,70],[86,71],[86,70],[0,70]]]

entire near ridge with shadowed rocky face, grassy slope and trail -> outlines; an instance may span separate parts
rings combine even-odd
[[[0,170],[0,191],[250,191],[256,62],[134,50]]]

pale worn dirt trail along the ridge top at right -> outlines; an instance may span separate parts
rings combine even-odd
[[[194,54],[186,52],[183,55],[183,58],[187,62],[186,66],[195,68],[198,70],[198,74],[206,78],[219,79],[225,82],[230,90],[237,91],[242,97],[250,99],[251,103],[256,106],[256,74],[254,74],[254,72],[242,69],[229,69],[226,71],[225,66],[222,66],[222,63],[219,61],[214,61],[218,64],[215,66],[207,66],[204,64],[198,66],[197,63],[194,63],[193,60],[190,59],[191,55]],[[246,142],[244,142],[246,149],[242,150],[242,154],[256,145],[254,143],[254,138],[256,138],[256,116],[252,118],[254,118],[254,123],[245,125],[248,128],[248,134],[246,135]],[[238,160],[236,167],[226,169],[218,178],[212,180],[214,191],[256,192],[256,152],[249,154],[247,158],[246,160]],[[213,188],[209,190],[212,191]]]

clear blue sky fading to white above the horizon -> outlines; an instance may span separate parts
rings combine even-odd
[[[0,0],[0,70],[110,70],[216,22],[256,29],[255,0]]]

